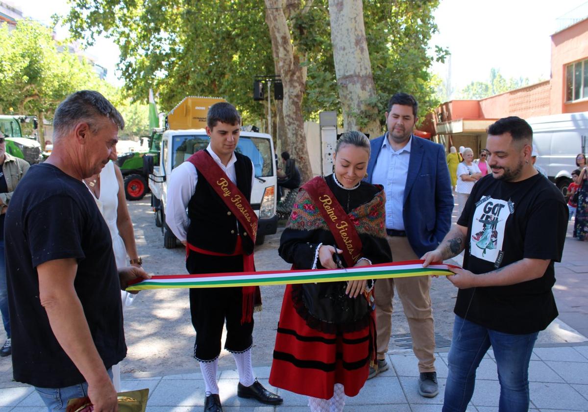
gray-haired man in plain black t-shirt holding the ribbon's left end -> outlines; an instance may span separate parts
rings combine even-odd
[[[83,178],[116,158],[124,121],[101,94],[70,95],[54,116],[54,148],[16,188],[6,214],[6,274],[17,381],[51,411],[86,394],[116,410],[110,368],[126,355],[121,288],[149,275],[117,271],[112,240]]]

